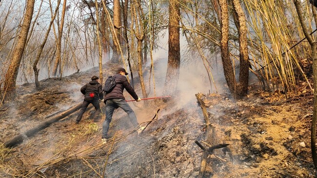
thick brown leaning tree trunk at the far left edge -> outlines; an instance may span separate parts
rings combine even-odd
[[[25,15],[21,27],[21,32],[18,36],[17,46],[13,50],[11,63],[5,73],[3,93],[6,98],[12,98],[16,95],[16,81],[20,62],[24,53],[25,43],[30,29],[32,15],[34,11],[34,1],[35,0],[26,1]]]

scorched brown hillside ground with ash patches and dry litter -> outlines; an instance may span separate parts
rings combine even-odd
[[[107,64],[103,73],[111,73],[112,67]],[[82,102],[79,88],[92,75],[98,75],[97,68],[62,80],[43,80],[40,90],[34,84],[19,86],[17,99],[0,108],[0,142]],[[141,93],[139,86],[136,90]],[[12,149],[2,144],[0,177],[196,178],[203,152],[194,141],[206,147],[229,144],[208,157],[206,178],[314,177],[310,149],[313,95],[304,82],[299,82],[298,94],[288,98],[260,91],[255,84],[243,100],[235,101],[226,93],[205,93],[203,100],[212,125],[205,125],[195,96],[182,105],[177,98],[167,103],[131,102],[139,123],[152,120],[160,109],[158,117],[137,135],[126,114],[117,109],[107,143],[100,142],[104,112],[102,118],[92,118],[93,109],[87,110],[79,125],[75,125],[75,112],[25,137]],[[212,136],[206,135],[206,126],[213,127]],[[215,142],[205,142],[208,137]]]

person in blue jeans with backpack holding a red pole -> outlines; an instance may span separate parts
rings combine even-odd
[[[108,138],[109,125],[115,108],[122,108],[128,114],[131,123],[133,125],[139,125],[136,114],[125,101],[125,98],[123,96],[123,89],[126,89],[137,102],[141,101],[141,99],[125,77],[125,75],[128,74],[125,69],[118,68],[116,72],[117,73],[113,76],[115,77],[115,81],[117,83],[116,87],[112,89],[112,91],[110,91],[109,93],[106,93],[103,97],[103,102],[104,104],[106,104],[106,118],[102,124],[102,142],[106,142]]]

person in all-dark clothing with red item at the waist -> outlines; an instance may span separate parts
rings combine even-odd
[[[99,77],[93,76],[91,77],[91,81],[81,87],[80,92],[84,95],[84,101],[81,105],[81,108],[79,110],[76,124],[79,124],[79,121],[82,118],[82,115],[84,114],[85,110],[87,109],[88,105],[91,103],[94,105],[96,112],[94,116],[101,114],[101,109],[99,105],[99,99],[102,100],[103,94],[102,94],[102,86],[99,84]]]

